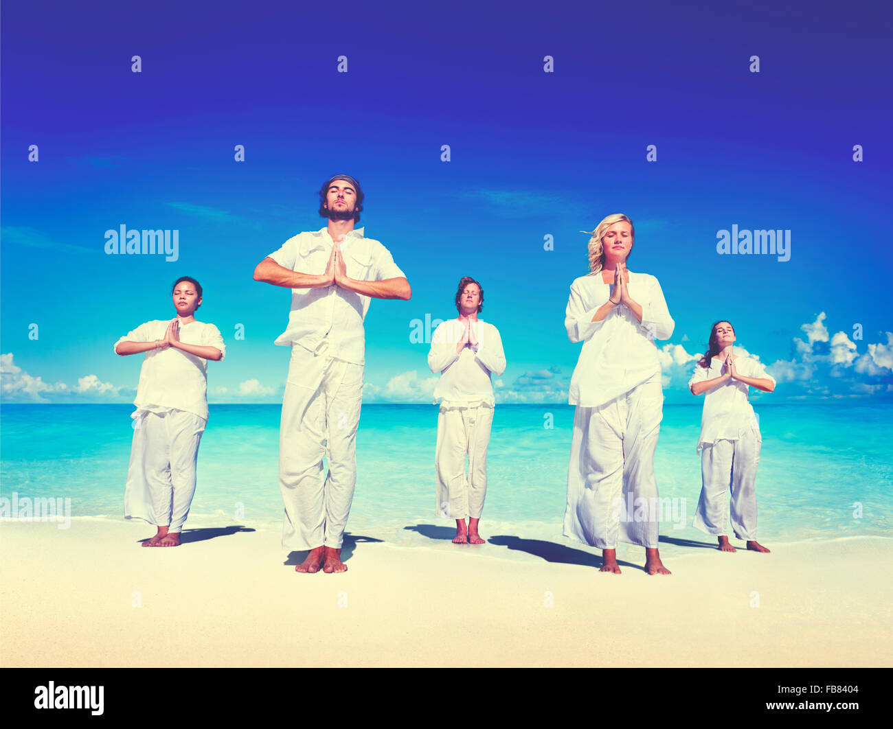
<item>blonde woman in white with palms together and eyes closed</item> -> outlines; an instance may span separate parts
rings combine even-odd
[[[564,327],[582,342],[571,379],[573,418],[564,534],[602,550],[619,575],[617,542],[645,547],[649,575],[669,575],[657,549],[655,448],[663,416],[656,339],[674,322],[654,276],[626,268],[635,244],[626,215],[591,233],[589,273],[571,285]]]

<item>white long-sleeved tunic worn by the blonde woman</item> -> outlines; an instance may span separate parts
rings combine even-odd
[[[601,321],[596,311],[611,296],[602,274],[574,280],[564,315],[564,328],[572,342],[582,342],[580,358],[571,377],[568,402],[586,408],[604,405],[660,374],[655,339],[669,339],[675,323],[667,310],[661,285],[654,276],[630,271],[627,290],[641,304],[642,321],[625,304],[619,304]]]

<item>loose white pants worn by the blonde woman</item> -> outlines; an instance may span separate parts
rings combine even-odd
[[[655,449],[663,418],[660,375],[573,417],[564,534],[599,549],[656,547]]]

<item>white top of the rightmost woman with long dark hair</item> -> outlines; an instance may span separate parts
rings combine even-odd
[[[732,349],[732,354],[735,350]],[[725,373],[725,365],[719,357],[710,361],[710,368],[705,369],[700,365],[695,366],[694,374],[689,380],[691,385],[697,382],[705,382],[716,377],[722,377]],[[744,377],[758,377],[772,381],[775,385],[775,377],[772,377],[763,364],[752,357],[735,355],[735,369]],[[756,421],[754,407],[747,400],[747,388],[749,385],[740,380],[728,379],[722,385],[716,385],[713,389],[704,393],[704,410],[701,413],[701,435],[697,440],[697,450],[705,445],[713,445],[716,441],[737,441],[741,431],[750,428],[760,437],[760,427]]]

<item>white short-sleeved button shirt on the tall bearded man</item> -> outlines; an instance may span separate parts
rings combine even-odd
[[[341,244],[349,278],[382,281],[406,278],[384,245],[363,236],[364,228],[350,231]],[[328,228],[298,233],[267,258],[283,268],[314,276],[326,272],[334,242]],[[369,311],[369,296],[333,284],[326,288],[293,288],[288,327],[275,344],[300,344],[311,352],[328,348],[336,360],[365,364],[363,319]]]

